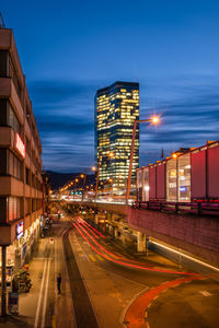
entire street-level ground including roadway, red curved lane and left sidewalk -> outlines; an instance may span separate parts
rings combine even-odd
[[[62,216],[39,241],[19,316],[0,327],[218,327],[218,282],[183,271],[152,253],[128,255],[87,221]]]

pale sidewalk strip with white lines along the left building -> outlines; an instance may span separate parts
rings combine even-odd
[[[0,317],[0,328],[42,327],[44,304],[46,304],[46,314],[43,327],[74,327],[73,307],[62,249],[61,234],[65,229],[66,226],[62,222],[55,223],[49,235],[38,241],[37,251],[28,263],[28,272],[32,280],[31,291],[19,295],[18,316],[8,315],[4,318]],[[49,243],[50,237],[54,239],[53,245]],[[47,269],[44,269],[48,258],[50,266],[47,274]],[[56,278],[59,272],[62,278],[60,295],[57,294],[56,290]],[[48,286],[46,285],[47,276]],[[45,296],[46,289],[47,295]],[[45,297],[47,297],[46,303]],[[39,307],[38,320],[35,323],[37,306]]]

